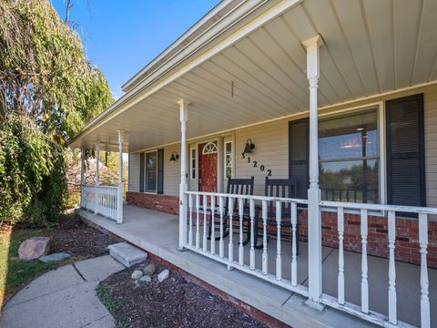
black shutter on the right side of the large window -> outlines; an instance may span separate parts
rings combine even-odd
[[[387,101],[385,108],[388,203],[426,206],[423,94]]]

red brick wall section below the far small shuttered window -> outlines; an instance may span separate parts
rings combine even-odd
[[[168,214],[179,213],[179,198],[161,194],[127,191],[127,203],[149,210],[159,210]]]

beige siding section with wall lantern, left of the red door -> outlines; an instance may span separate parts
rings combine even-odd
[[[176,151],[179,155],[177,161],[170,161],[171,153]],[[180,145],[171,145],[164,148],[164,194],[169,196],[179,195],[180,179]]]

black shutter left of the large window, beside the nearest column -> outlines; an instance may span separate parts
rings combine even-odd
[[[308,198],[309,154],[310,154],[310,118],[289,123],[289,176],[298,183],[297,197]]]

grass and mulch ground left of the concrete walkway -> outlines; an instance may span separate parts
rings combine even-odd
[[[42,262],[21,261],[18,248],[30,237],[50,238],[50,253],[67,252],[71,258],[66,261]],[[107,245],[118,240],[112,236],[86,226],[75,214],[68,214],[52,229],[0,229],[0,309],[15,292],[44,272],[89,257],[107,254]]]

